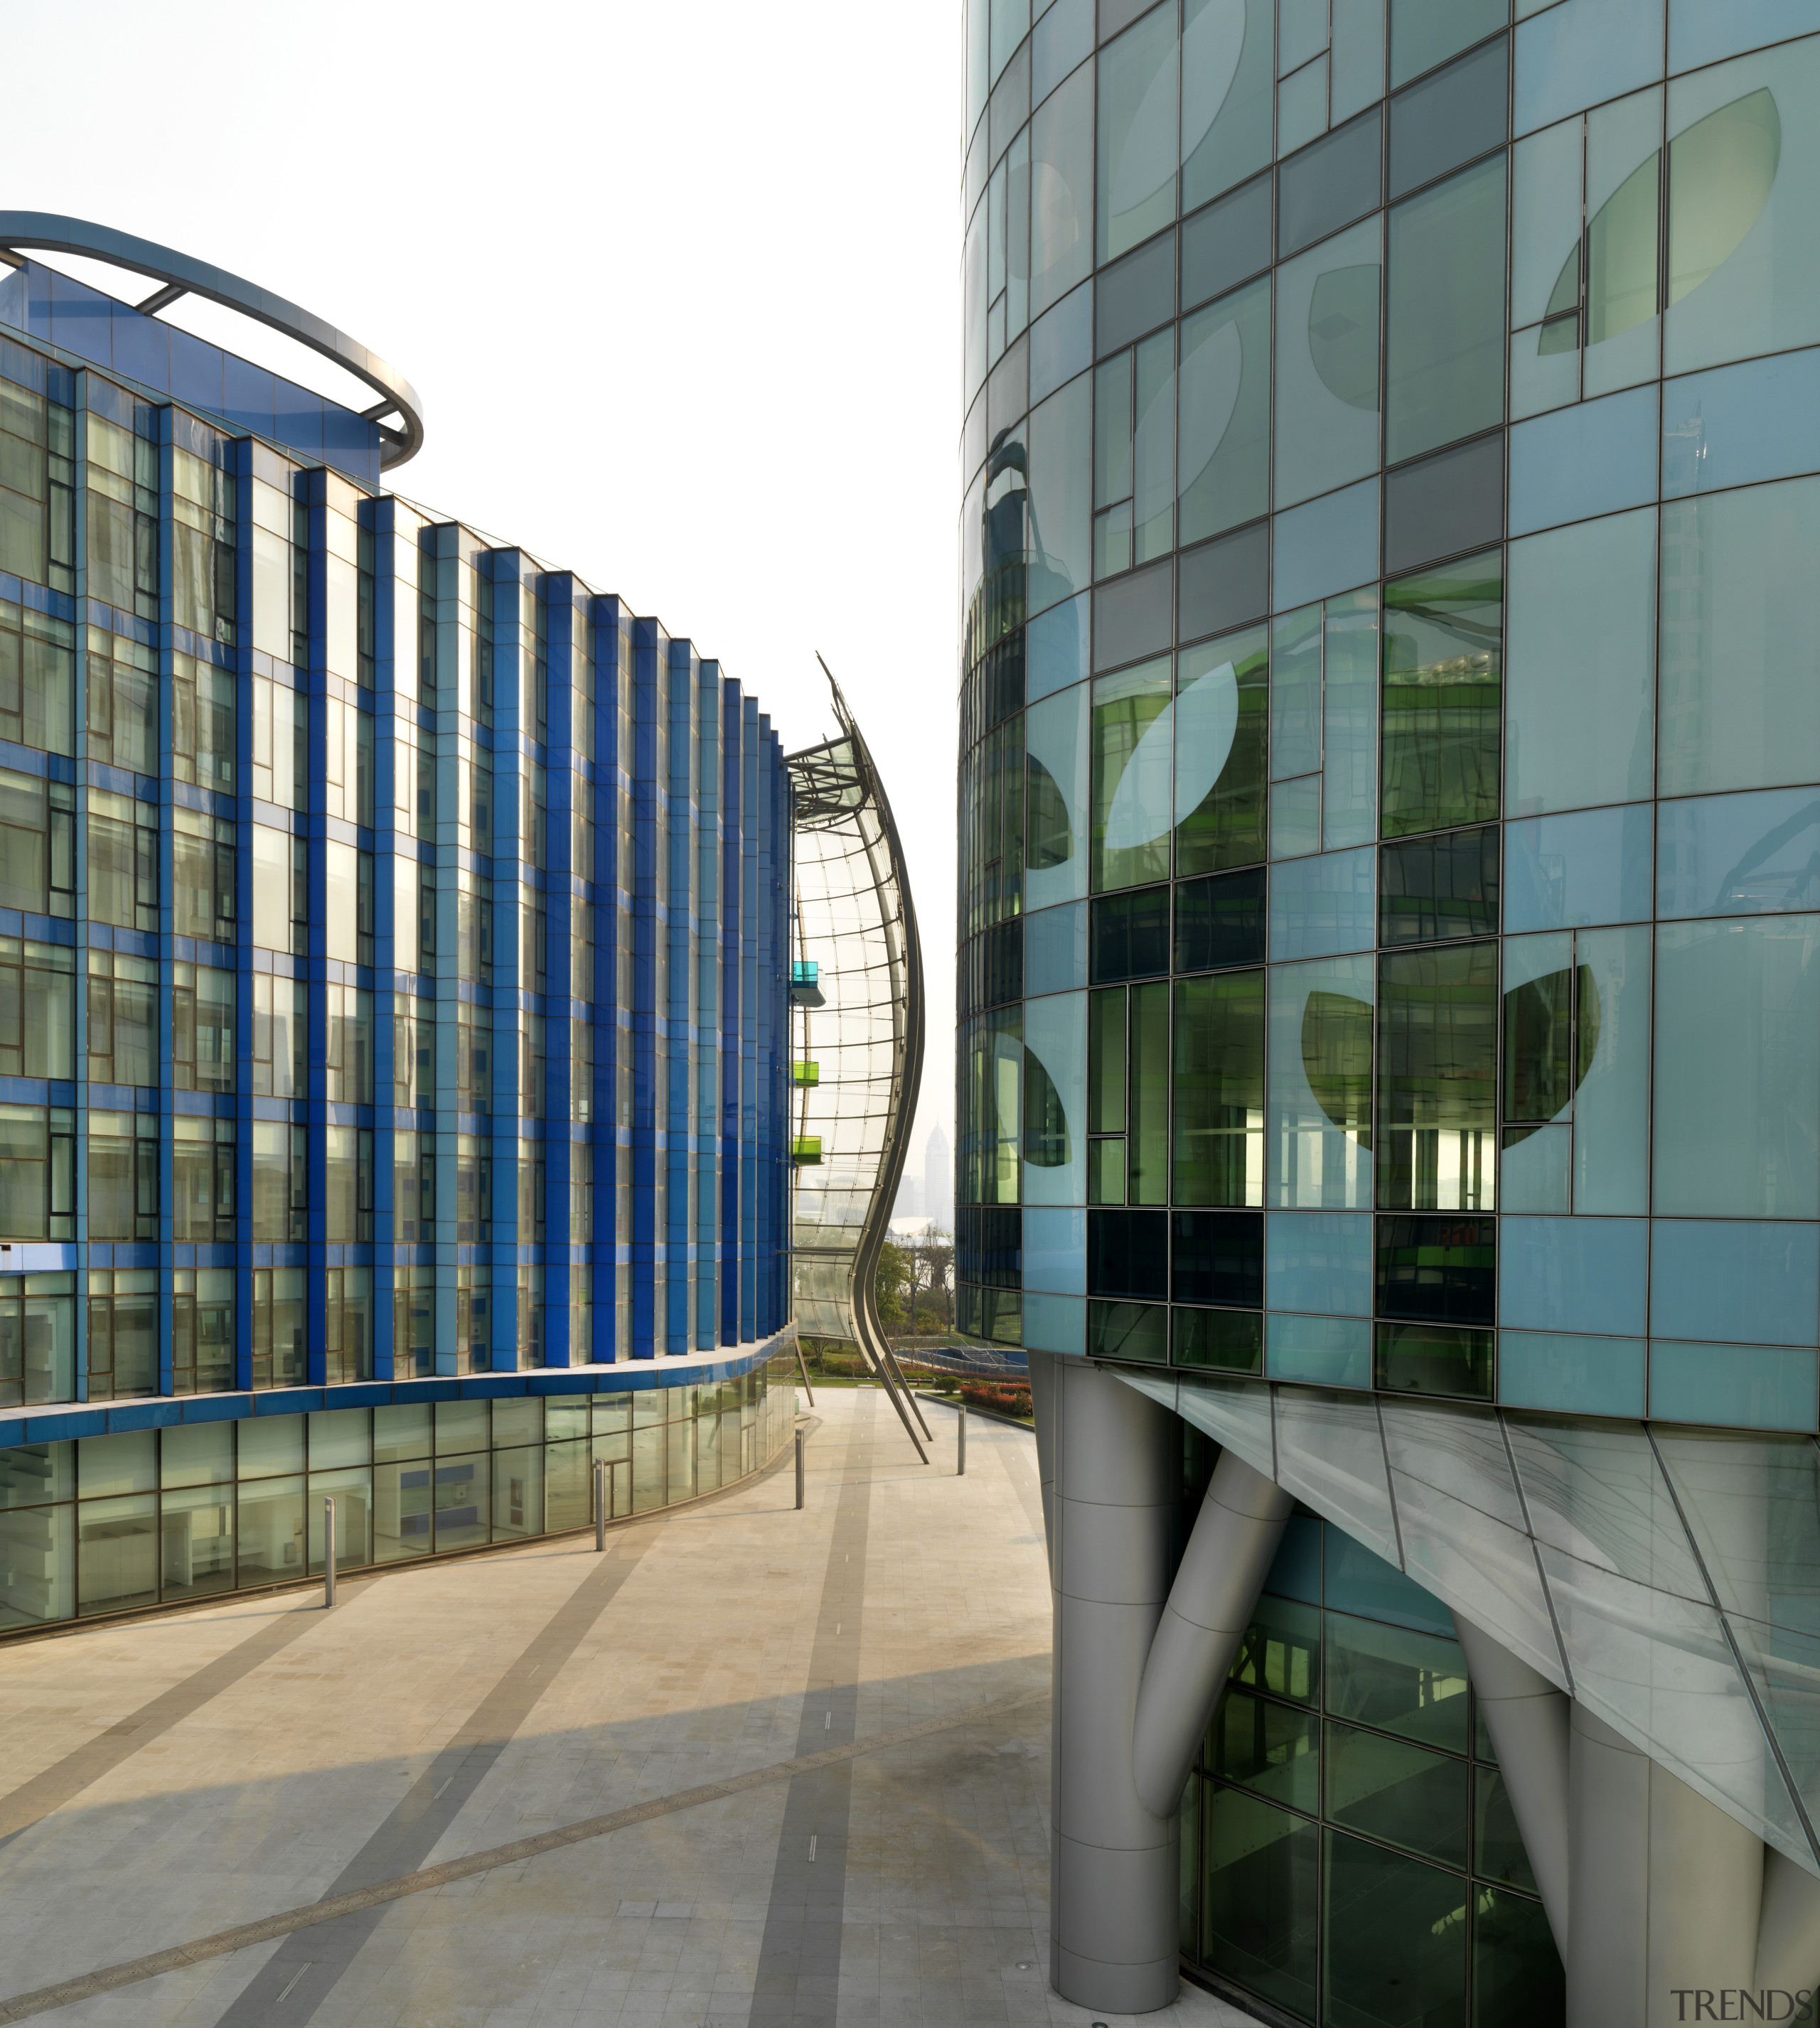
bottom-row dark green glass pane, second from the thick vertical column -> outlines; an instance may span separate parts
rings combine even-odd
[[[1465,2028],[1467,1882],[1325,1833],[1325,2028]]]

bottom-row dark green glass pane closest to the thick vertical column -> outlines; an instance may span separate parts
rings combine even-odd
[[[1242,1789],[1203,1789],[1201,1953],[1260,2000],[1313,2020],[1319,1829]]]

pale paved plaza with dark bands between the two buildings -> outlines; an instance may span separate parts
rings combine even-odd
[[[803,1513],[0,1651],[0,2022],[1116,2028],[1045,1977],[1035,1446],[925,1414],[818,1393]]]

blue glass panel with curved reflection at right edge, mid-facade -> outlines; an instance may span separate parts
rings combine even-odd
[[[1820,789],[1664,803],[1656,913],[1781,915],[1820,907]]]

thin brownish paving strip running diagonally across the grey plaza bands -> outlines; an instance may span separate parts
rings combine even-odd
[[[152,1951],[148,1957],[103,1965],[99,1971],[85,1971],[57,1985],[41,1985],[30,1994],[14,1994],[10,2000],[0,2000],[0,2022],[20,2022],[32,2014],[49,2014],[77,2000],[93,2000],[99,1994],[120,1991],[124,1985],[156,1979],[164,1971],[181,1971],[185,1965],[201,1965],[211,1957],[227,1957],[254,1943],[290,1937],[317,1923],[333,1923],[337,1916],[357,1914],[361,1908],[377,1908],[383,1902],[404,1900],[410,1894],[428,1894],[432,1888],[448,1886],[454,1880],[471,1880],[475,1874],[487,1874],[501,1866],[517,1866],[521,1860],[534,1860],[544,1852],[562,1852],[566,1845],[582,1845],[594,1837],[609,1837],[613,1831],[631,1829],[635,1823],[651,1823],[655,1817],[672,1817],[702,1803],[718,1803],[722,1797],[767,1789],[797,1774],[810,1774],[816,1768],[883,1752],[889,1746],[907,1746],[911,1740],[923,1740],[954,1726],[1000,1718],[1027,1706],[1043,1704],[1047,1697],[1047,1685],[1012,1691],[1008,1697],[988,1697],[984,1704],[968,1704],[958,1712],[923,1718],[913,1726],[897,1726],[893,1732],[879,1732],[872,1738],[852,1740],[846,1746],[824,1746],[818,1754],[799,1754],[795,1760],[773,1760],[769,1766],[730,1774],[726,1781],[702,1783],[696,1789],[678,1789],[672,1795],[651,1797],[647,1803],[631,1803],[627,1809],[607,1811],[601,1817],[582,1817],[578,1823],[566,1823],[554,1831],[515,1837],[507,1845],[489,1845],[485,1852],[444,1860],[440,1866],[424,1866],[394,1880],[377,1880],[373,1886],[355,1888],[351,1894],[335,1894],[329,1900],[306,1902],[300,1908],[282,1908],[278,1914],[262,1916],[258,1923],[239,1923],[233,1929],[215,1931],[213,1937],[197,1937],[193,1943],[179,1943],[168,1951]]]

